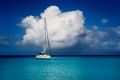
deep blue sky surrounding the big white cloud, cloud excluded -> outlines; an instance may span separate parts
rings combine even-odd
[[[47,7],[56,5],[62,12],[81,10],[85,17],[86,34],[92,35],[93,40],[90,43],[79,41],[69,48],[54,49],[53,54],[120,55],[119,4],[119,0],[1,0],[0,54],[29,55],[40,52],[37,46],[17,45],[25,34],[25,29],[18,24],[26,16],[39,16]],[[100,38],[100,32],[107,35]],[[99,40],[99,43],[95,44],[95,40]]]

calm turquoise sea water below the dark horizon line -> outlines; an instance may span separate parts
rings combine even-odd
[[[120,80],[120,57],[0,58],[0,80]]]

